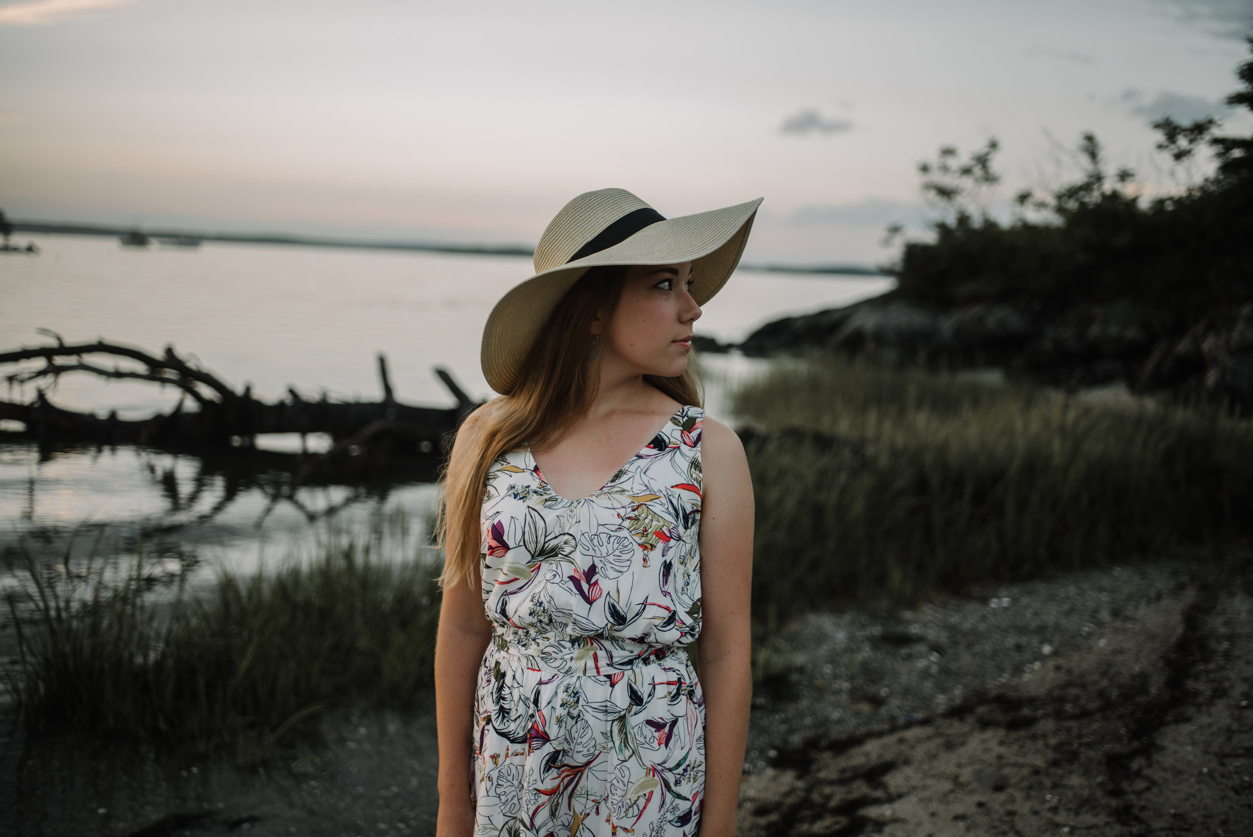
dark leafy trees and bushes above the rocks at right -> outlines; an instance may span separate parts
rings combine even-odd
[[[1253,110],[1253,60],[1237,78],[1243,86],[1227,103]],[[1154,128],[1157,149],[1173,165],[1194,163],[1208,148],[1215,172],[1178,194],[1145,200],[1135,194],[1135,173],[1111,170],[1100,142],[1086,133],[1076,149],[1079,178],[1049,192],[1024,190],[1007,223],[981,205],[1000,182],[992,167],[997,142],[965,158],[942,148],[920,173],[923,195],[946,213],[932,224],[933,242],[905,244],[900,296],[927,307],[1009,302],[1053,309],[1126,299],[1189,317],[1253,299],[1253,137],[1223,135],[1213,118],[1164,118]]]

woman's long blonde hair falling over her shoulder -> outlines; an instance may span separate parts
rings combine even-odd
[[[475,413],[467,447],[445,465],[435,533],[444,548],[441,588],[475,584],[482,549],[480,516],[491,464],[524,445],[543,450],[559,441],[596,397],[600,363],[591,358],[591,323],[605,322],[618,309],[625,267],[594,267],[574,283],[553,308],[540,338],[523,366],[521,382]],[[683,405],[702,406],[700,385],[692,365],[683,375],[644,380]]]

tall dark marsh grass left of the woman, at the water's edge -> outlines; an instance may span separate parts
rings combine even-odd
[[[207,591],[184,576],[165,600],[143,558],[76,594],[28,558],[30,601],[9,600],[20,648],[9,689],[36,728],[226,744],[243,762],[327,707],[412,704],[432,679],[437,568],[387,546],[377,528],[335,538],[271,571],[222,573]]]

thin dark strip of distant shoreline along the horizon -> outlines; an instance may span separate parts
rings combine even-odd
[[[103,224],[54,223],[48,221],[14,221],[14,232],[49,233],[61,236],[125,236],[134,227],[109,227]],[[464,253],[471,256],[534,256],[535,248],[524,244],[440,244],[427,242],[371,241],[356,238],[323,238],[287,233],[202,233],[189,229],[144,229],[153,238],[198,238],[207,242],[236,244],[291,244],[296,247],[338,247],[348,249],[419,251],[427,253]],[[769,273],[819,273],[841,276],[882,277],[882,271],[865,264],[742,264],[747,271]]]

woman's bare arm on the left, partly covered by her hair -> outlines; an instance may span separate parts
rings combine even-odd
[[[466,434],[472,432],[475,422],[470,416],[457,434],[451,456],[464,455]],[[480,578],[477,571],[475,578]],[[459,581],[445,589],[435,638],[435,723],[440,742],[437,837],[469,837],[474,832],[470,803],[474,694],[490,640],[491,621],[484,614],[479,584],[471,589]]]

